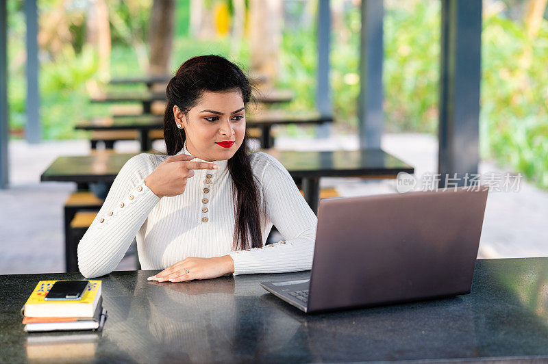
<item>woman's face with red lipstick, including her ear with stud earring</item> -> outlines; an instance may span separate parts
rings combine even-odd
[[[186,133],[188,153],[205,161],[230,159],[238,151],[245,135],[245,109],[239,89],[226,92],[206,91],[185,116],[176,105],[175,122]],[[233,142],[225,143],[222,142]]]

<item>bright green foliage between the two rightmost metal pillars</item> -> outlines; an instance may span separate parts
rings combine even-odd
[[[436,132],[440,66],[440,1],[393,7],[384,23],[387,131]]]

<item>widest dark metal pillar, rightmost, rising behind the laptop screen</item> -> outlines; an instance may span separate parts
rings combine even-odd
[[[464,185],[479,164],[482,1],[442,0],[438,173]]]

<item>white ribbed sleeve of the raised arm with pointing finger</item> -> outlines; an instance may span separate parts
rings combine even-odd
[[[114,179],[103,206],[78,244],[78,268],[86,278],[103,276],[116,268],[160,201],[144,182],[154,168],[148,155],[139,154],[129,159]]]

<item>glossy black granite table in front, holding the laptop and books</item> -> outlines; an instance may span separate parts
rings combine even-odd
[[[147,281],[155,272],[101,277],[108,319],[99,333],[23,331],[20,310],[38,281],[81,275],[0,276],[0,358],[24,363],[47,352],[52,362],[96,363],[548,360],[548,258],[479,260],[468,295],[314,315],[258,285],[308,272]]]

